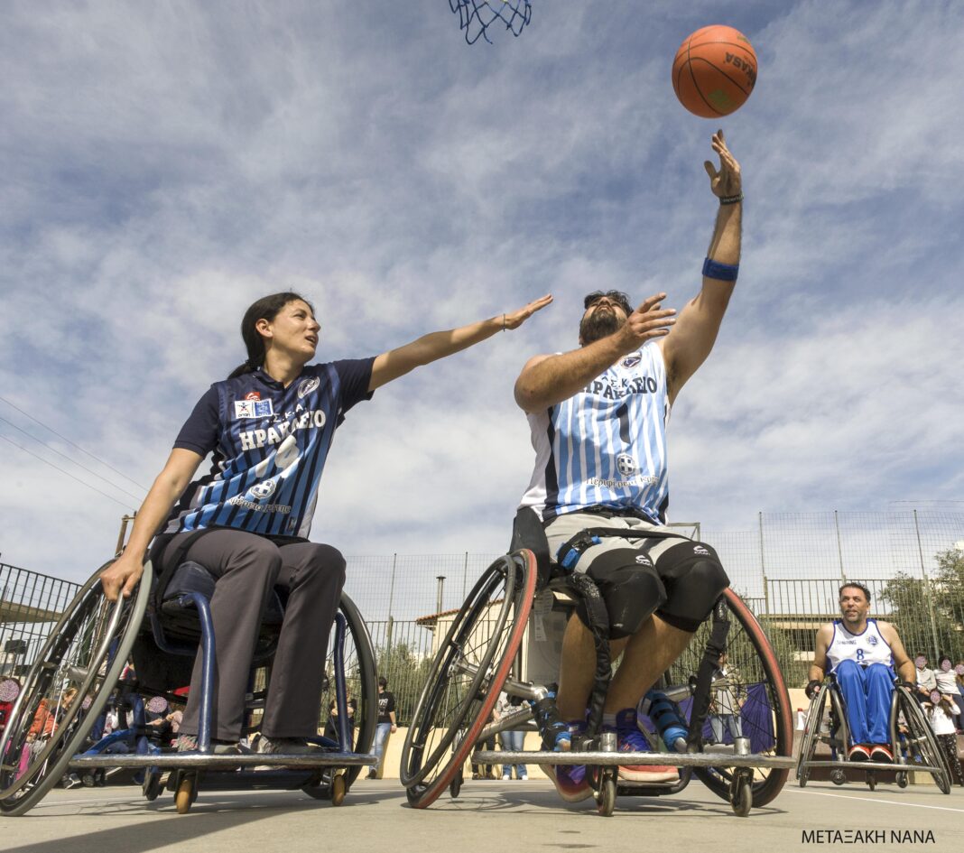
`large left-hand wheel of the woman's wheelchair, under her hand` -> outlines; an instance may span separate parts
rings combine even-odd
[[[28,812],[60,781],[120,680],[144,619],[152,572],[148,561],[134,595],[112,602],[100,586],[109,565],[67,605],[23,682],[0,738],[2,814]]]

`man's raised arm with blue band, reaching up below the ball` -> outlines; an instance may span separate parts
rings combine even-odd
[[[743,213],[739,164],[726,146],[722,130],[713,135],[711,145],[720,158],[719,171],[709,160],[703,167],[710,175],[710,190],[720,205],[704,265],[703,288],[683,307],[673,332],[660,344],[670,402],[710,355],[736,287]]]

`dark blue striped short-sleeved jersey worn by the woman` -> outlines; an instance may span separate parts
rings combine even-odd
[[[288,387],[261,370],[214,383],[174,441],[213,453],[213,465],[181,496],[164,532],[235,527],[307,537],[335,429],[371,399],[373,361],[311,364]]]

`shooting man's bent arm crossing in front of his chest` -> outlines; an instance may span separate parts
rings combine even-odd
[[[616,360],[646,341],[665,335],[676,322],[676,310],[662,308],[665,293],[651,296],[616,332],[569,353],[529,359],[516,380],[516,403],[523,412],[538,412],[567,400],[607,370]]]

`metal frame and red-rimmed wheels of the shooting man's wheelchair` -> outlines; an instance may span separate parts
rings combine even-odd
[[[513,667],[517,673],[519,670],[518,651],[522,631],[532,607],[536,574],[536,558],[527,549],[496,560],[479,579],[440,644],[440,651],[433,663],[432,677],[426,683],[416,706],[415,720],[402,751],[402,784],[406,786],[409,801],[415,808],[430,806],[445,787],[448,787],[453,797],[459,795],[464,784],[463,767],[475,744],[502,731],[538,731],[532,721],[544,715],[550,707],[554,707],[554,685],[536,684],[509,677]],[[502,578],[501,585],[493,580],[498,577]],[[502,596],[501,599],[492,596],[492,604],[500,604],[498,627],[495,639],[490,641],[490,648],[484,654],[476,654],[477,659],[473,661],[469,659],[472,655],[466,653],[466,650],[470,647],[472,632],[480,615],[485,610],[484,590],[487,585]],[[549,589],[552,588],[550,584]],[[775,731],[776,755],[750,754],[748,738],[740,738],[743,742],[736,743],[731,752],[725,751],[725,748],[713,752],[704,752],[703,749],[702,731],[710,704],[710,689],[713,686],[710,670],[718,654],[726,648],[725,634],[728,628],[723,625],[727,623],[727,616],[731,613],[736,614],[736,620],[747,628],[754,650],[760,654],[761,659],[768,655],[768,660],[764,660],[764,668],[769,669],[767,679],[771,681],[775,705],[772,708],[772,725]],[[511,628],[505,628],[510,616]],[[693,775],[700,778],[718,796],[728,799],[737,814],[749,813],[755,799],[758,805],[769,802],[783,787],[790,767],[793,766],[789,696],[763,629],[745,604],[729,590],[714,608],[713,627],[716,631],[711,632],[708,639],[708,648],[700,665],[700,675],[676,684],[669,691],[670,698],[675,700],[686,697],[694,699],[686,754],[618,753],[615,736],[602,733],[574,741],[573,751],[568,753],[545,750],[483,750],[471,754],[472,762],[586,764],[590,771],[588,776],[595,788],[597,808],[603,815],[613,813],[618,794],[675,793],[682,790]],[[458,689],[460,685],[456,685],[454,692],[458,694],[457,701],[454,706],[444,705],[440,697],[446,692],[453,692],[448,689],[448,684],[459,678],[465,683],[461,685],[461,690]],[[527,700],[528,706],[522,706],[520,711],[486,725],[502,690]],[[442,713],[449,714],[449,719],[438,719],[440,708]],[[435,730],[442,726],[447,726],[447,731],[439,736]],[[440,763],[442,767],[436,772]],[[680,782],[671,786],[633,784],[618,779],[619,764],[671,764],[681,768],[683,772]],[[763,783],[756,785],[756,790],[753,778],[755,768],[769,771]]]

